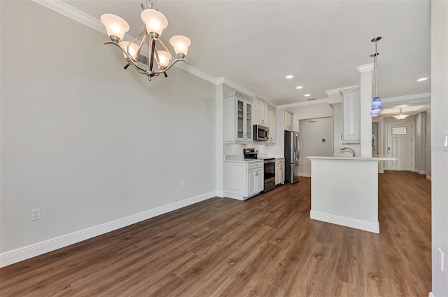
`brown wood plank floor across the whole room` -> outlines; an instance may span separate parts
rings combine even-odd
[[[386,172],[379,193],[380,234],[309,219],[310,179],[302,178],[1,268],[0,295],[426,297],[430,181]]]

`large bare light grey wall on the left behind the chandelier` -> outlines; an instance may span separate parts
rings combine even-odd
[[[176,67],[148,81],[107,40],[1,1],[1,253],[214,195],[214,85]]]

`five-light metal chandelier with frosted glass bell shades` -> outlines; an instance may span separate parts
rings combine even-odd
[[[176,64],[176,62],[184,61],[187,62],[187,64],[190,64],[185,60],[185,57],[188,52],[188,47],[191,45],[191,41],[188,37],[182,35],[176,35],[169,39],[169,43],[173,46],[174,52],[178,57],[176,60],[172,61],[171,53],[169,53],[168,48],[160,40],[163,29],[168,26],[168,20],[165,18],[165,15],[153,8],[151,0],[146,0],[146,4],[148,6],[146,9],[144,8],[144,5],[141,4],[143,11],[140,15],[141,20],[144,22],[144,29],[131,41],[123,41],[125,33],[130,29],[123,18],[120,18],[118,15],[106,13],[101,16],[101,22],[106,27],[107,34],[111,39],[111,41],[104,44],[113,44],[114,46],[118,46],[120,50],[123,50],[123,55],[127,61],[125,69],[133,66],[140,74],[148,76],[148,79],[151,81],[153,76],[159,76],[160,74],[164,74],[165,77],[168,77],[166,71]],[[140,39],[141,41],[139,41]],[[149,65],[148,67],[141,67],[138,63],[138,59],[146,40],[148,40],[150,50],[148,60]],[[140,44],[134,43],[134,41],[139,41]],[[158,50],[156,43],[160,43],[163,49]],[[157,66],[155,64],[157,64]]]

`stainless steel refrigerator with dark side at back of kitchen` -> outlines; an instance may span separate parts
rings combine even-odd
[[[285,182],[295,184],[299,181],[299,132],[285,131]]]

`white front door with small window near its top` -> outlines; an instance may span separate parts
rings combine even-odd
[[[412,171],[412,124],[387,125],[387,170]]]

